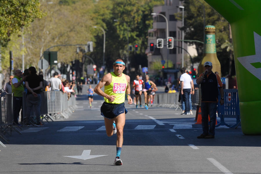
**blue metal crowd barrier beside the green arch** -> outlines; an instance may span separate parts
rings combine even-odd
[[[220,100],[220,96],[219,96]],[[236,128],[240,125],[240,110],[239,110],[239,98],[237,89],[224,89],[224,105],[220,105],[218,102],[218,117],[220,117],[220,125],[226,125],[229,128]],[[224,118],[236,118],[236,123],[234,125],[229,125],[225,123]]]

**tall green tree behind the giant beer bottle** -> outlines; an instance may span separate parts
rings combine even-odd
[[[184,5],[184,39],[185,40],[200,40],[204,42],[204,17],[205,25],[213,25],[216,28],[216,51],[217,57],[221,64],[223,75],[229,74],[229,57],[230,53],[225,48],[221,47],[229,40],[229,23],[204,0],[181,0]],[[205,16],[204,16],[205,14]],[[177,19],[182,20],[182,14],[176,14]],[[198,42],[188,42],[195,44],[197,57],[193,58],[193,62],[200,62],[203,56],[204,45]]]

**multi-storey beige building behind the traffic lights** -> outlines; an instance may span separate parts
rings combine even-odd
[[[182,21],[178,21],[174,15],[177,12],[182,12],[182,8],[178,6],[182,6],[179,0],[165,0],[163,6],[155,6],[153,8],[153,12],[156,13],[156,15],[153,15],[153,28],[148,31],[148,48],[151,43],[155,45],[154,51],[148,49],[146,52],[148,55],[148,73],[152,75],[158,74],[159,71],[157,72],[153,69],[153,63],[161,63],[161,61],[164,60],[166,62],[165,67],[160,70],[160,73],[164,79],[170,82],[177,79],[179,75],[178,72],[180,68],[182,68],[182,41],[175,41],[182,40],[182,31],[179,29],[182,27]],[[167,49],[166,46],[166,19],[162,15],[168,20],[168,36],[174,38],[173,49]],[[164,39],[163,48],[156,47],[158,38]],[[184,49],[188,49],[186,43],[184,43]],[[188,55],[186,51],[184,51],[184,62],[186,57],[188,57]]]

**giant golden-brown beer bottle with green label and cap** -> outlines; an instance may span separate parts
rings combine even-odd
[[[213,25],[205,26],[204,53],[198,67],[198,73],[201,74],[204,72],[204,63],[209,61],[212,62],[212,71],[218,71],[218,74],[221,77],[221,66],[216,51],[215,29],[216,28]]]

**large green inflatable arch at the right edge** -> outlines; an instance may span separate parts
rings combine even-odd
[[[242,132],[261,135],[261,1],[205,1],[231,25]]]

